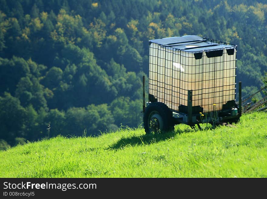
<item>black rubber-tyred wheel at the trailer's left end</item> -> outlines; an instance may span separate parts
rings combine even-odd
[[[161,102],[153,102],[146,108],[143,121],[146,134],[174,129],[172,111]]]

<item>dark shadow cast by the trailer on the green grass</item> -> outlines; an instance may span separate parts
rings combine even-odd
[[[170,131],[166,133],[155,133],[155,134],[153,133],[140,136],[133,136],[131,138],[121,138],[119,141],[117,141],[117,143],[106,148],[106,150],[124,149],[126,147],[133,147],[136,145],[149,145],[160,141],[173,139],[176,134],[188,133],[192,131],[195,130],[187,128],[184,130],[178,129],[176,131]]]

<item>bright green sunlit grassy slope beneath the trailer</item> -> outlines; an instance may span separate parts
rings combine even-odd
[[[236,127],[56,137],[0,151],[0,177],[267,177],[267,113]],[[204,127],[204,125],[203,125]]]

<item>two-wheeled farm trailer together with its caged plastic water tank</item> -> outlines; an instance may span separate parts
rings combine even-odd
[[[242,91],[236,102],[237,45],[197,35],[149,41],[149,101],[143,121],[147,134],[170,131],[175,124],[238,122]]]

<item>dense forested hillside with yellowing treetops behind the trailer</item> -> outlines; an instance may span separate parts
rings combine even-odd
[[[0,0],[0,148],[141,124],[154,38],[237,44],[247,96],[264,85],[266,18],[264,0]]]

